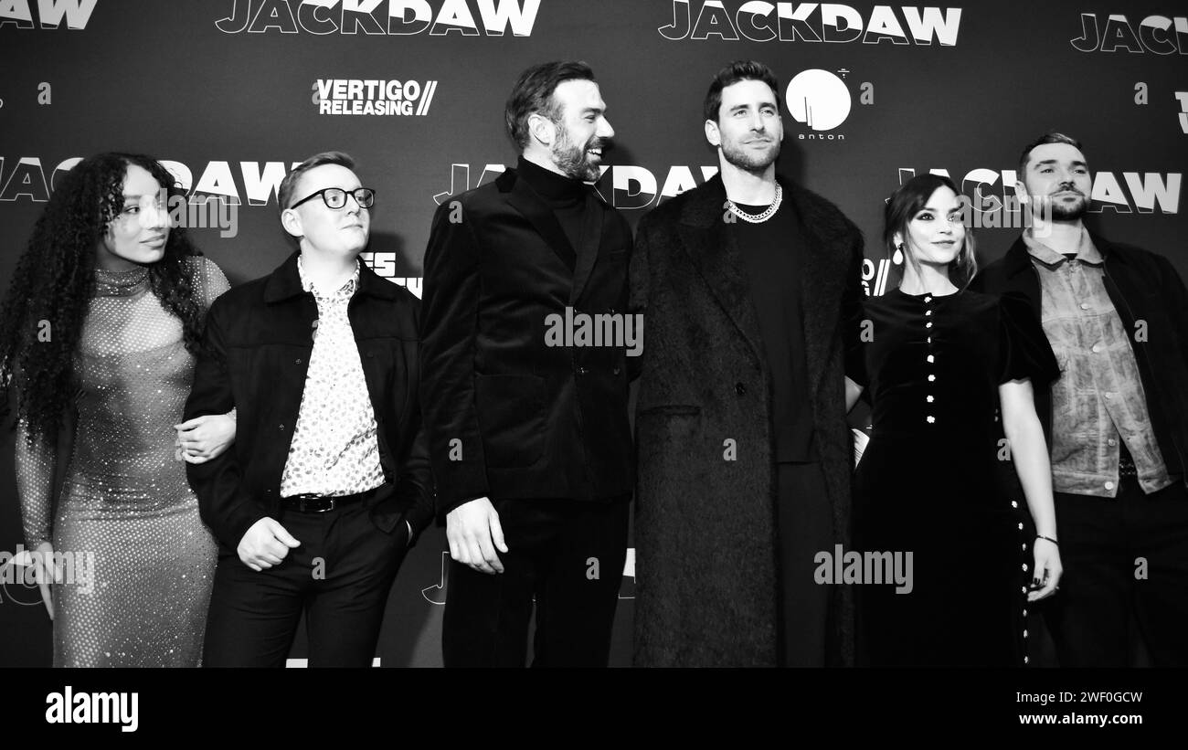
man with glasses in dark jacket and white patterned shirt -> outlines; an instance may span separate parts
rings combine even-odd
[[[188,464],[220,542],[206,666],[283,666],[304,611],[310,666],[367,666],[405,551],[432,520],[417,405],[417,299],[380,279],[375,193],[339,152],[280,183],[297,240],[213,305],[185,419],[238,409],[235,445]]]

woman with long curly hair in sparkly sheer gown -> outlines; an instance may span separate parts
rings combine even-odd
[[[78,163],[0,311],[0,405],[15,396],[17,490],[56,667],[201,661],[217,548],[178,459],[217,456],[235,424],[176,422],[206,310],[228,284],[171,227],[176,191],[148,157]]]

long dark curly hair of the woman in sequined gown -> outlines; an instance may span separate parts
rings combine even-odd
[[[168,191],[169,206],[175,196],[184,199],[173,176],[151,157],[103,153],[83,159],[62,178],[17,261],[0,307],[0,418],[10,415],[15,395],[30,447],[38,439],[52,446],[74,399],[71,361],[95,292],[96,248],[124,210],[124,180],[133,164]],[[185,230],[173,227],[164,256],[148,266],[150,290],[182,322],[191,354],[198,351],[203,325],[189,260],[196,255],[201,253]],[[40,336],[43,322],[50,324],[49,337]]]

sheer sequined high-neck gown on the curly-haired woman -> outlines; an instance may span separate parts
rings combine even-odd
[[[204,258],[188,263],[204,311],[227,279]],[[146,271],[96,271],[74,357],[74,449],[57,495],[58,457],[26,450],[18,436],[26,544],[52,540],[75,567],[53,586],[55,667],[201,662],[217,547],[173,445],[192,373],[182,323],[148,290]]]

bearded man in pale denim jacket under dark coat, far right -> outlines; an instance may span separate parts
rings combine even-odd
[[[1188,666],[1188,291],[1167,258],[1089,231],[1075,139],[1023,148],[1032,227],[973,287],[1028,298],[1060,361],[1035,393],[1064,577],[1044,604],[1061,667]]]

